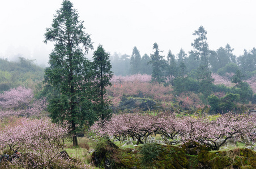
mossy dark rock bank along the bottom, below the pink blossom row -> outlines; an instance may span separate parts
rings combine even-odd
[[[152,143],[122,149],[107,141],[99,143],[92,156],[97,161],[97,167],[113,169],[256,168],[256,153],[250,149],[209,152],[207,147],[197,143],[187,143],[181,147]]]

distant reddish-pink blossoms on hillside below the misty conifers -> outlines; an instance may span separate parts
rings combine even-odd
[[[228,77],[221,77],[218,74],[212,74],[215,79],[214,84],[224,84],[227,87],[232,87],[234,84]],[[254,93],[256,92],[256,77],[249,79],[248,82],[253,88]],[[198,94],[193,92],[182,93],[179,96],[173,95],[172,86],[164,86],[163,84],[152,83],[151,75],[147,74],[134,74],[126,77],[113,76],[112,86],[106,88],[108,96],[111,98],[114,106],[118,106],[123,96],[132,97],[147,97],[155,101],[166,108],[170,107],[173,101],[178,101],[182,108],[190,109],[190,106],[194,108],[203,108],[205,105],[200,100]],[[225,92],[215,92],[217,97],[225,96]]]

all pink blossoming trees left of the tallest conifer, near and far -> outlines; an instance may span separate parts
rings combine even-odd
[[[61,155],[69,125],[61,126],[42,118],[46,101],[35,100],[32,90],[20,86],[0,94],[0,108],[0,148],[10,156],[8,168],[88,167]],[[31,116],[41,119],[24,118]],[[19,159],[13,158],[15,151],[22,153]]]

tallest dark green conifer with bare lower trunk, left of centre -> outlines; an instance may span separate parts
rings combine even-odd
[[[84,29],[72,3],[64,0],[45,33],[45,43],[54,42],[45,69],[45,82],[54,89],[48,111],[53,122],[70,124],[73,146],[78,145],[79,128],[95,119],[90,99],[92,68],[84,56],[93,47]]]

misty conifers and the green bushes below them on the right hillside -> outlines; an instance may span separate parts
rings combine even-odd
[[[177,95],[182,92],[195,92],[200,94],[206,104],[217,103],[219,107],[215,110],[225,107],[227,111],[227,106],[233,109],[232,102],[249,103],[251,100],[254,103],[256,96],[253,96],[251,87],[243,80],[256,74],[256,48],[244,50],[244,54],[237,57],[229,44],[216,51],[210,50],[207,31],[203,26],[195,30],[193,35],[193,50],[188,53],[181,48],[177,55],[169,50],[168,55],[164,56],[157,43],[154,43],[152,54],[141,56],[135,46],[131,56],[114,54],[110,57],[112,70],[116,75],[150,74],[152,82],[173,86]],[[214,85],[212,73],[226,76],[235,86]],[[214,92],[224,92],[227,95],[217,100],[212,95]],[[212,97],[215,101],[211,100]],[[221,101],[229,105],[220,106]],[[214,106],[211,107],[214,109]]]

